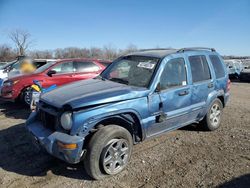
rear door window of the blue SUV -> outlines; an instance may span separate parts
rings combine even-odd
[[[210,70],[204,55],[190,56],[189,58],[193,82],[211,79]]]

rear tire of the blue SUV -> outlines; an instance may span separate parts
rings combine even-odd
[[[220,111],[220,114],[217,118],[218,119],[217,123],[216,123],[216,121],[214,121],[217,116],[214,116],[213,112],[212,112],[214,110],[215,106],[217,106],[219,108],[219,111]],[[201,121],[201,125],[202,125],[203,129],[206,131],[214,131],[214,130],[218,129],[220,127],[222,113],[223,113],[223,104],[222,104],[221,100],[217,98],[209,106],[209,109],[208,109],[206,116]],[[215,119],[211,119],[211,116],[212,117],[214,116]]]

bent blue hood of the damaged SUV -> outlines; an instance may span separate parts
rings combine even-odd
[[[74,108],[106,104],[147,96],[149,90],[116,82],[90,79],[64,85],[41,96],[41,100],[57,108]]]

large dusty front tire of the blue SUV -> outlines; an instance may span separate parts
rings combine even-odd
[[[116,140],[119,140],[119,142],[120,141],[124,142],[128,146],[128,151],[126,150],[127,151],[126,160],[124,160],[126,162],[120,165],[121,166],[120,168],[118,165],[117,167],[118,171],[114,171],[114,173],[107,173],[107,170],[105,171],[105,169],[107,169],[107,166],[103,164],[105,163],[104,159],[106,159],[105,157],[106,157],[106,154],[108,154],[107,152],[109,151],[109,149],[111,147],[114,148],[112,144],[113,144],[113,141],[116,141]],[[87,146],[87,153],[84,158],[84,167],[85,167],[86,172],[88,173],[89,176],[91,176],[93,179],[96,179],[96,180],[118,174],[119,172],[124,170],[125,167],[127,166],[129,159],[131,157],[132,147],[133,147],[132,136],[127,129],[121,126],[117,126],[117,125],[107,125],[107,126],[100,128],[91,137]],[[117,150],[117,153],[118,153],[118,150]],[[114,159],[114,155],[110,154],[109,157],[112,158],[112,161],[116,160]],[[120,156],[119,159],[122,159],[122,157]],[[112,164],[110,164],[110,166]],[[115,162],[114,166],[116,165],[117,165],[117,162]]]

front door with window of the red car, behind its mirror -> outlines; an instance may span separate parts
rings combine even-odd
[[[43,87],[49,87],[53,84],[60,86],[74,81],[75,67],[72,61],[56,64],[50,70],[55,70],[56,74],[52,76],[47,75],[45,81],[42,82]]]

